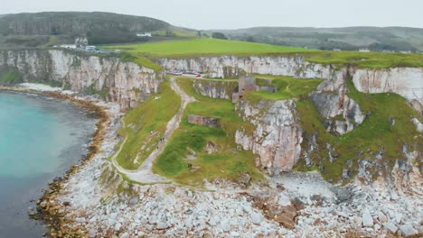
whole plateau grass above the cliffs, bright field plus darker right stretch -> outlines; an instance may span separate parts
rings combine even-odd
[[[322,51],[295,47],[277,46],[246,41],[225,41],[197,38],[190,41],[160,41],[136,45],[107,46],[108,49],[121,49],[135,57],[147,58],[190,58],[198,56],[295,56],[303,55],[315,63],[337,66],[356,66],[367,69],[385,69],[391,67],[423,67],[423,55],[358,52],[358,51]]]

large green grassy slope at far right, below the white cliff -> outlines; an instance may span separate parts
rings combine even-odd
[[[383,151],[383,156],[379,165],[383,168],[383,164],[386,164],[391,168],[395,160],[406,160],[402,153],[404,144],[409,146],[410,151],[421,150],[419,148],[423,146],[423,139],[415,125],[410,123],[410,119],[418,117],[421,121],[422,118],[407,104],[406,99],[390,93],[361,93],[353,86],[351,78],[348,80],[348,88],[350,90],[348,96],[362,106],[364,113],[370,113],[370,115],[353,132],[343,136],[335,137],[325,131],[324,118],[310,100],[297,102],[302,128],[305,130],[306,136],[318,134],[318,149],[311,154],[311,158],[316,165],[324,166],[324,178],[334,182],[340,181],[343,169],[347,169],[348,160],[353,161],[354,175],[357,173],[358,160],[366,158],[375,160],[375,155],[381,151]],[[390,117],[396,120],[396,124],[390,124]],[[307,148],[306,143],[305,140],[303,148]],[[328,159],[326,143],[332,144],[339,155],[334,163]],[[317,166],[306,168],[305,162],[302,161],[296,166],[296,169],[317,169]],[[381,169],[372,171],[372,174],[377,176],[379,172],[386,171]]]

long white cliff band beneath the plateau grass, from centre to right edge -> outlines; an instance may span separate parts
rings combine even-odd
[[[391,92],[407,98],[416,109],[423,105],[423,69],[335,69],[306,61],[302,56],[219,56],[198,57],[194,59],[159,59],[164,69],[193,70],[209,72],[211,78],[228,78],[240,71],[249,74],[292,76],[296,78],[334,79],[343,77],[346,72],[353,77],[354,86],[364,93]],[[343,71],[343,75],[338,75]],[[335,81],[334,81],[335,83]],[[334,85],[336,87],[336,85]]]

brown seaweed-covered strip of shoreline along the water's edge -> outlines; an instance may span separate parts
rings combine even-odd
[[[96,122],[96,131],[90,135],[90,143],[88,147],[88,153],[83,155],[78,164],[71,165],[71,168],[67,169],[64,175],[57,176],[52,181],[47,181],[49,189],[44,190],[42,197],[36,201],[36,213],[29,211],[28,215],[31,219],[42,221],[43,224],[50,230],[48,233],[42,234],[42,236],[52,236],[55,237],[54,231],[61,231],[61,227],[65,225],[63,222],[62,216],[58,215],[55,209],[52,209],[48,206],[42,206],[43,202],[50,203],[53,198],[55,198],[63,188],[63,184],[68,181],[81,167],[85,166],[89,160],[94,158],[101,149],[101,143],[104,140],[105,130],[107,124],[111,120],[110,114],[108,114],[104,106],[98,105],[93,101],[90,101],[88,98],[73,96],[72,94],[65,93],[61,90],[52,90],[52,91],[42,91],[41,88],[28,88],[28,87],[4,87],[0,86],[1,91],[9,92],[18,92],[18,93],[32,93],[42,96],[51,96],[55,99],[70,101],[75,105],[78,105],[82,110],[88,112],[91,115],[95,116]],[[52,232],[53,231],[53,232]],[[77,233],[68,233],[68,235],[79,235]]]

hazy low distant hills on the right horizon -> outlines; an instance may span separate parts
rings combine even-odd
[[[255,27],[223,32],[231,40],[257,41],[320,50],[423,51],[423,29],[407,27],[295,28]]]

